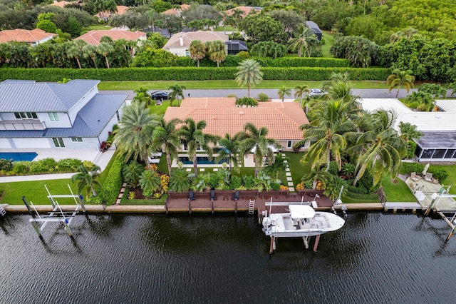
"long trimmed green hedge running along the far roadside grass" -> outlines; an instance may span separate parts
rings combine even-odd
[[[348,72],[351,80],[384,81],[390,69],[383,68],[262,68],[265,80],[328,80],[332,73]],[[61,81],[71,79],[99,79],[100,81],[190,81],[234,79],[237,68],[171,67],[123,69],[1,69],[0,80],[31,79]]]

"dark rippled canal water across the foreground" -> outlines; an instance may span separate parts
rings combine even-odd
[[[78,216],[41,243],[0,219],[0,303],[455,303],[456,237],[442,219],[353,213],[321,237],[269,238],[248,216]],[[311,242],[311,246],[313,241]]]

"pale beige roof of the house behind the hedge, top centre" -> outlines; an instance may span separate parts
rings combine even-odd
[[[180,33],[172,35],[170,40],[163,46],[163,49],[165,51],[175,48],[187,49],[194,40],[199,40],[204,44],[206,41],[228,41],[229,37],[228,35],[217,31],[188,31],[186,33],[181,31]]]

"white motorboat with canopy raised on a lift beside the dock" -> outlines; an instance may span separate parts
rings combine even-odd
[[[321,235],[338,230],[345,220],[333,213],[315,211],[311,206],[290,205],[287,213],[271,213],[263,218],[264,233],[276,238]]]

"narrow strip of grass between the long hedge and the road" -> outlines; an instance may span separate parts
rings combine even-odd
[[[207,80],[207,81],[103,81],[98,84],[99,90],[135,90],[144,87],[149,90],[167,90],[178,82],[187,89],[214,89],[214,88],[241,88],[234,80]],[[312,88],[321,88],[324,81],[290,81],[290,80],[264,80],[255,88],[294,88],[306,84]],[[353,88],[388,88],[385,81],[352,81]],[[245,88],[247,93],[247,88]],[[185,93],[185,90],[184,90]]]

